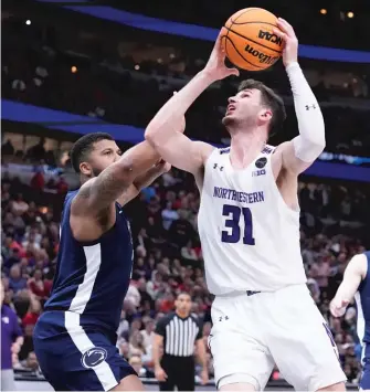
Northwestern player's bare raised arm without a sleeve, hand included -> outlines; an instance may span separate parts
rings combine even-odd
[[[178,131],[178,127],[186,112],[207,87],[215,81],[239,74],[237,70],[228,68],[224,60],[225,54],[219,38],[204,70],[166,103],[145,134],[146,139],[166,161],[193,174],[203,166],[213,148],[204,142],[191,141]]]

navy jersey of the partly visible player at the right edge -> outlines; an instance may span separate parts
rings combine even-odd
[[[370,252],[364,252],[368,269],[355,296],[357,305],[357,331],[361,342],[370,343]]]

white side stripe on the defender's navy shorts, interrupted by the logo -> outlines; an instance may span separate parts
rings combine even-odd
[[[72,311],[65,311],[64,315],[65,329],[70,333],[71,339],[75,343],[76,348],[80,350],[82,358],[86,351],[95,348],[95,346],[89,340],[84,329],[81,327],[80,315]],[[109,364],[105,360],[91,369],[95,372],[96,377],[102,383],[104,391],[109,391],[118,384]]]

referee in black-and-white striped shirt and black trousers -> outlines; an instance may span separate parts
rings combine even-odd
[[[162,317],[156,327],[152,359],[160,391],[194,391],[194,345],[202,364],[202,383],[208,382],[205,346],[199,320],[190,315],[191,298],[187,293],[178,295],[176,311]],[[160,359],[160,348],[163,356]]]

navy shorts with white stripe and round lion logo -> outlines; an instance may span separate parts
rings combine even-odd
[[[42,373],[56,391],[109,391],[136,374],[101,328],[82,327],[80,315],[45,311],[33,332]]]

